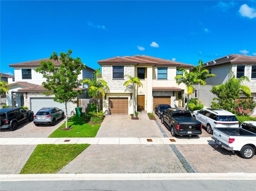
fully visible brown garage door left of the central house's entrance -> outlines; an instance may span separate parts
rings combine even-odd
[[[108,98],[110,114],[128,114],[128,98]]]

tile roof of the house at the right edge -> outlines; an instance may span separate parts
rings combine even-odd
[[[240,54],[231,54],[228,56],[224,56],[209,62],[204,63],[204,67],[215,67],[218,65],[226,65],[226,64],[256,64],[255,56],[247,56]]]

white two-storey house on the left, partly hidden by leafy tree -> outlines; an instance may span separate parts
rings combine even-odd
[[[7,105],[11,106],[27,106],[30,110],[36,113],[40,108],[47,106],[55,106],[60,109],[65,109],[65,104],[54,102],[51,96],[46,96],[42,92],[48,92],[42,87],[42,82],[45,81],[43,75],[36,73],[35,69],[40,67],[40,62],[45,60],[46,62],[51,61],[56,67],[61,64],[61,61],[54,61],[50,59],[40,59],[35,61],[28,61],[16,64],[10,64],[9,67],[14,68],[14,82],[10,83],[9,94],[7,95]],[[87,67],[83,69],[78,76],[78,79],[92,78],[92,74],[95,70]],[[86,98],[84,93],[86,89],[81,87],[83,94],[78,98]],[[68,113],[75,110],[76,104],[68,103]]]

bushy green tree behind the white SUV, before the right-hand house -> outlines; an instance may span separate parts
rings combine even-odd
[[[244,80],[248,81],[247,77],[242,76],[240,79],[236,79],[232,71],[230,71],[229,75],[230,80],[225,84],[219,85],[218,87],[212,86],[210,92],[217,96],[217,98],[214,97],[213,100],[218,100],[218,103],[212,102],[212,107],[231,111],[238,107],[238,103],[234,100],[240,98],[241,94],[247,97],[251,96],[250,88],[241,85]]]

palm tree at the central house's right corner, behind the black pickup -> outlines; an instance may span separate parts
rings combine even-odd
[[[184,83],[186,85],[186,89],[188,91],[188,98],[187,98],[187,110],[188,110],[188,102],[189,102],[189,95],[194,93],[193,84],[196,82],[196,74],[193,72],[188,73],[184,68],[180,68],[178,71],[182,71],[183,75],[177,75],[174,79],[178,80],[177,83],[180,85]]]

